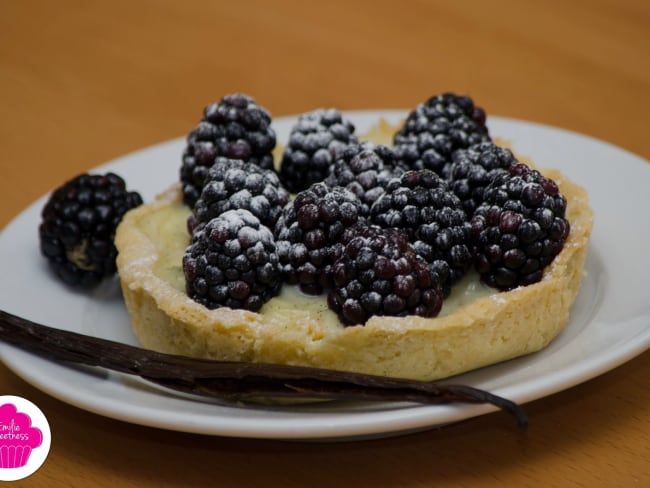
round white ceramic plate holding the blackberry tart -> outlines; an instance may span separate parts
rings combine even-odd
[[[397,122],[404,111],[348,113],[358,133],[379,116]],[[294,117],[274,128],[285,141]],[[566,329],[545,350],[483,368],[454,382],[525,403],[586,381],[650,347],[650,165],[607,143],[529,122],[491,117],[493,136],[543,168],[559,168],[587,188],[595,227],[587,275]],[[107,163],[97,172],[122,175],[145,200],[178,178],[184,139]],[[0,309],[36,322],[137,344],[117,280],[92,295],[72,292],[49,273],[39,255],[37,227],[46,196],[0,234]],[[322,403],[299,407],[242,407],[191,398],[138,378],[53,364],[7,345],[0,357],[35,387],[72,405],[141,425],[209,435],[350,439],[392,435],[455,422],[494,410],[489,405]],[[534,422],[534,419],[532,419]]]

